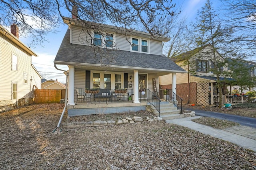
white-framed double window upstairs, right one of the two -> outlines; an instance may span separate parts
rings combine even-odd
[[[138,51],[148,53],[148,40],[142,38],[132,37],[132,47],[131,51]]]

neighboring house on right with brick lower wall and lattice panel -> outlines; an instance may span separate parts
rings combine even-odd
[[[213,97],[218,95],[218,87],[216,84],[216,77],[212,76],[209,68],[212,66],[211,60],[213,58],[212,46],[204,45],[194,50],[188,51],[179,55],[174,61],[182,66],[185,70],[194,70],[186,74],[177,74],[176,92],[183,99],[183,103],[198,104],[201,106],[208,106],[214,104]],[[220,55],[216,51],[216,57]],[[185,64],[184,64],[185,63]],[[189,64],[188,64],[189,63]],[[227,67],[220,68],[228,70]],[[159,84],[162,89],[171,89],[170,81],[172,76],[160,76]],[[220,78],[224,80],[224,78]]]

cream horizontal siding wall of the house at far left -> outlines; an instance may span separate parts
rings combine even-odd
[[[12,53],[18,56],[18,71],[12,70]],[[31,66],[32,58],[8,39],[0,37],[0,100],[12,99],[12,82],[18,83],[18,99],[26,96],[33,85],[41,88],[41,78]],[[28,73],[28,83],[23,83],[23,72]],[[30,79],[32,80],[30,81]]]

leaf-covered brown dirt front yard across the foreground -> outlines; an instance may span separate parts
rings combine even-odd
[[[256,169],[252,151],[164,121],[52,133],[63,107],[37,104],[0,113],[1,169]]]

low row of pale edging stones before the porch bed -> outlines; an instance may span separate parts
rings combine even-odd
[[[162,121],[162,117],[154,117],[146,118],[146,121]],[[120,124],[133,124],[136,122],[141,122],[143,121],[142,117],[139,116],[134,116],[133,118],[126,117],[125,119],[118,119],[117,121],[114,120],[108,120],[108,121],[103,121],[103,120],[96,120],[96,121],[87,121],[87,122],[72,122],[72,123],[62,123],[63,127],[67,128],[74,128],[74,127],[97,127],[97,126],[106,126],[106,125],[120,125]]]

